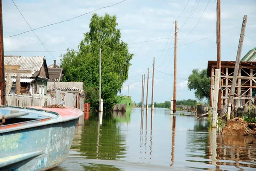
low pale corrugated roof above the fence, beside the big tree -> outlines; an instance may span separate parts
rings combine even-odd
[[[74,87],[78,88],[79,90],[84,90],[83,88],[84,82],[57,82],[55,83],[56,89],[58,88],[69,88],[73,89]],[[48,88],[53,88],[54,87],[54,82],[49,82],[47,83]]]

